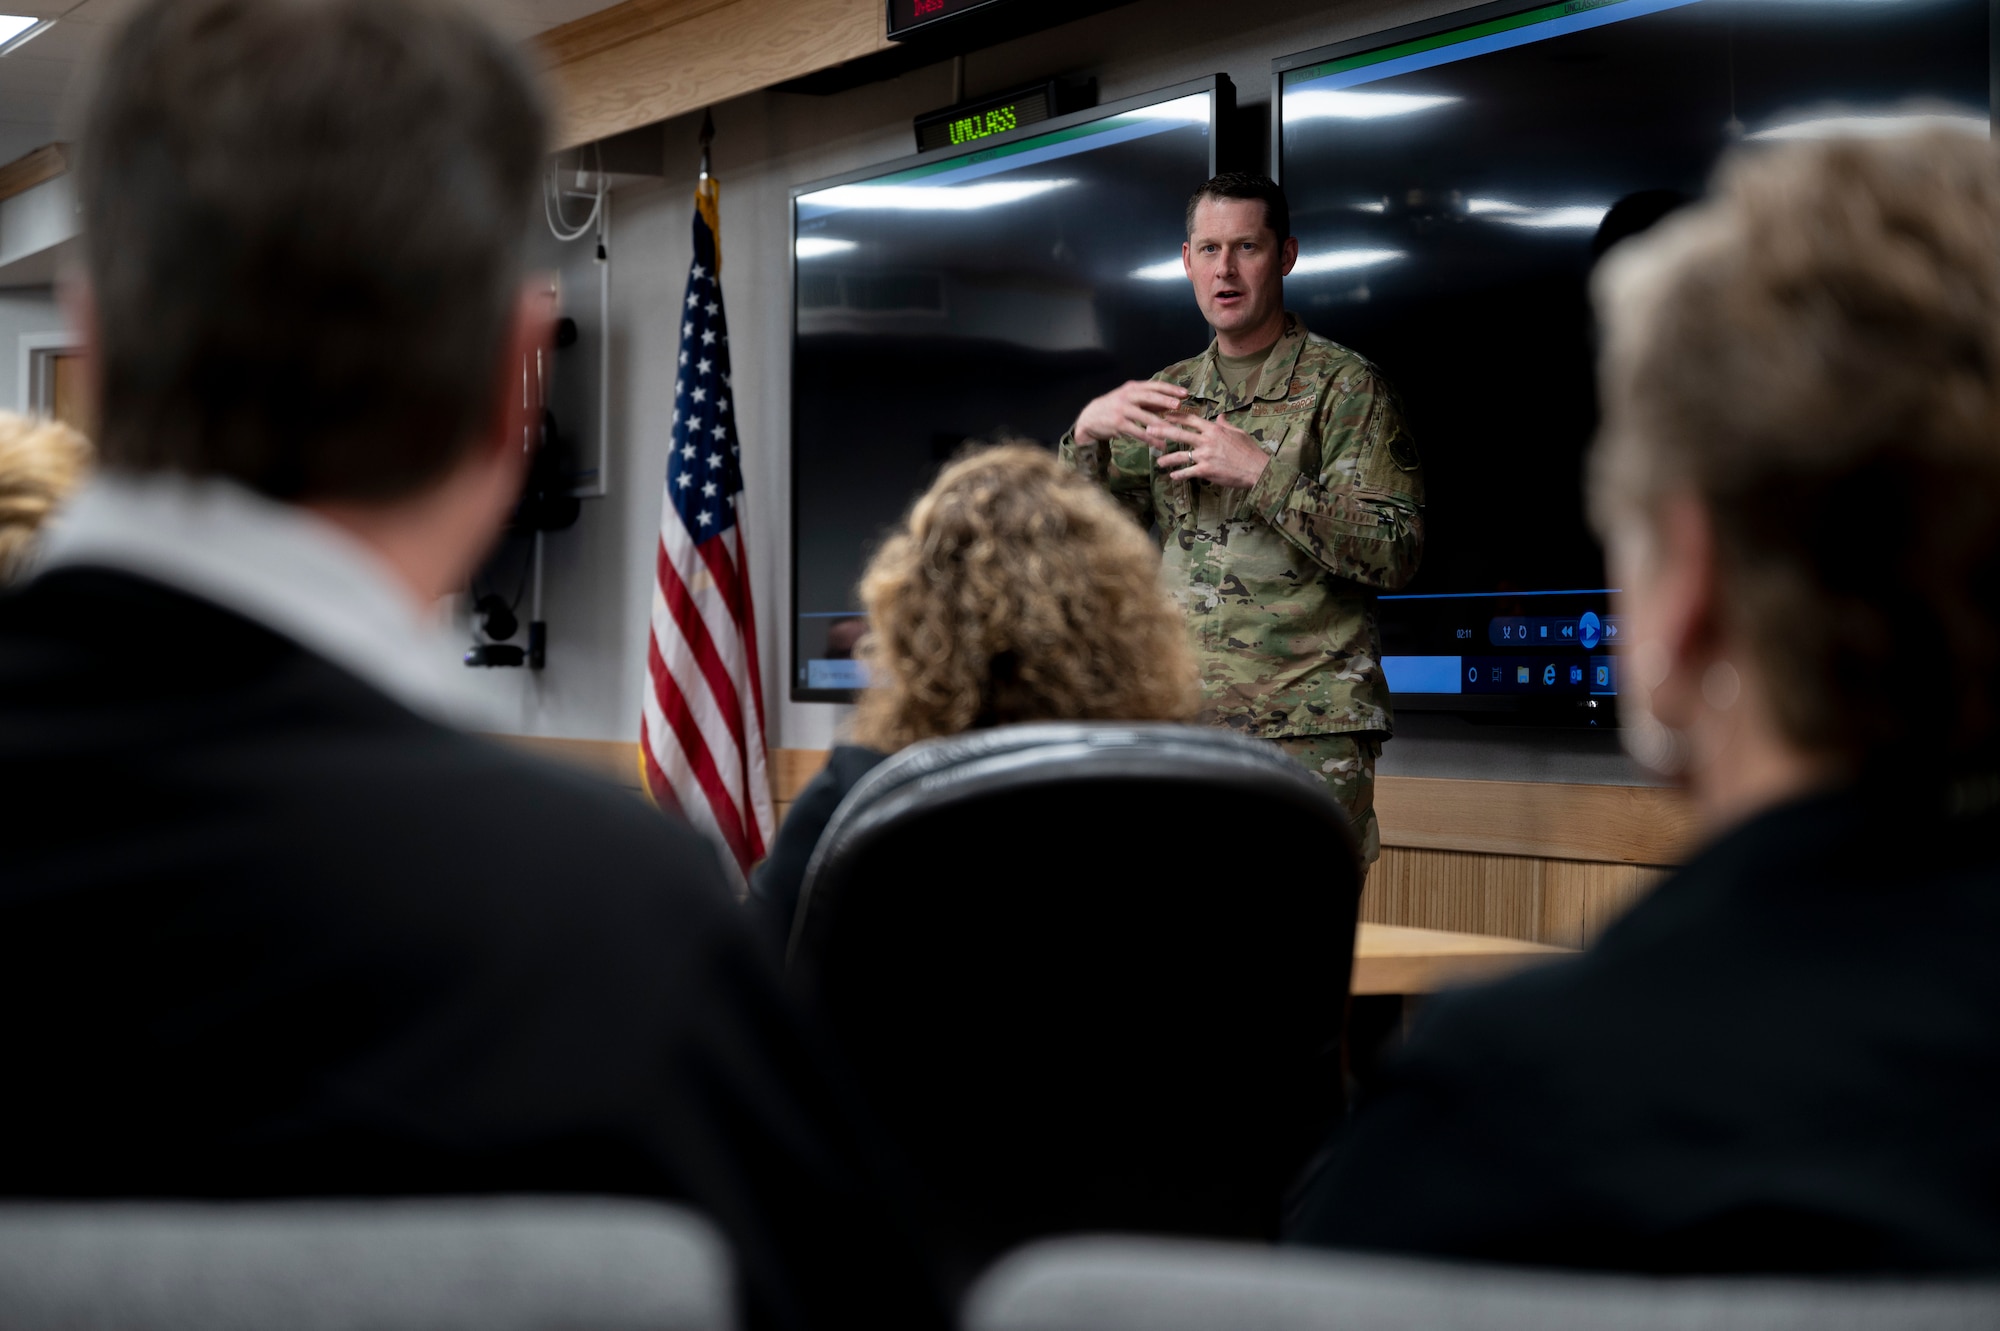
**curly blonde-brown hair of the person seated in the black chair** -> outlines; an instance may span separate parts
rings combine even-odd
[[[1160,556],[1048,450],[944,470],[862,574],[854,739],[894,751],[1010,721],[1184,721],[1194,650]]]

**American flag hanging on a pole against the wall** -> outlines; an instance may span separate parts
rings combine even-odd
[[[774,819],[722,318],[718,196],[714,178],[702,176],[694,190],[694,262],[680,304],[674,448],[660,504],[640,761],[660,807],[680,809],[748,871],[764,857]]]

